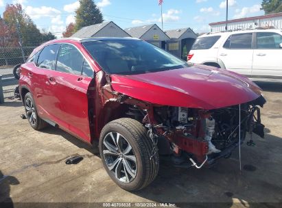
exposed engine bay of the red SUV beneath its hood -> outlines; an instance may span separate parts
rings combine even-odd
[[[247,133],[257,133],[263,138],[264,126],[257,105],[263,107],[264,103],[266,101],[260,96],[240,106],[212,110],[154,106],[153,114],[148,112],[143,115],[139,109],[130,107],[128,115],[137,120],[145,115],[143,123],[150,129],[152,140],[156,140],[154,144],[163,142],[160,138],[166,138],[165,145],[158,145],[160,153],[164,151],[163,148],[170,148],[171,153],[185,161],[190,159],[197,166],[206,161],[213,164],[215,159],[230,156],[231,151],[239,145],[239,140],[240,144],[244,142]]]

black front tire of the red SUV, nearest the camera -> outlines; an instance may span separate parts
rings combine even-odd
[[[152,157],[152,159],[150,159],[150,157],[152,156],[153,144],[152,140],[148,138],[147,132],[148,129],[146,129],[137,120],[131,118],[120,118],[109,122],[102,129],[102,132],[100,134],[99,151],[104,168],[108,172],[110,178],[113,179],[113,181],[115,181],[115,183],[117,183],[117,185],[119,185],[124,190],[141,190],[144,187],[148,186],[150,183],[152,183],[152,181],[154,181],[156,175],[158,174],[158,149],[156,147],[156,154],[154,155],[154,157]],[[106,140],[107,135],[109,135],[110,133],[119,133],[122,136],[121,138],[125,138],[126,142],[128,142],[132,147],[132,153],[136,157],[137,161],[137,169],[135,172],[136,176],[134,178],[132,177],[130,182],[126,183],[116,178],[116,174],[113,172],[113,170],[110,170],[108,168],[105,157],[115,157],[115,159],[117,159],[118,157],[111,155],[104,156],[104,151],[106,149],[104,140]],[[119,153],[124,153],[124,151],[120,151]],[[122,158],[126,159],[126,156],[122,156]],[[115,159],[113,159],[112,164],[115,163]],[[121,160],[121,163],[125,164],[124,160]],[[117,164],[117,166],[119,166],[119,164]],[[117,171],[117,168],[115,168],[115,170]],[[124,165],[124,172],[126,172],[126,170],[128,169],[126,169],[126,165]]]

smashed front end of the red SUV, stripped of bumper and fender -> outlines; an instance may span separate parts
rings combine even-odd
[[[242,96],[249,101],[241,100],[231,106],[204,109],[161,105],[150,99],[143,101],[134,98],[128,94],[135,93],[139,83],[130,86],[123,78],[115,77],[113,81],[112,77],[104,76],[104,73],[97,74],[95,106],[100,108],[95,109],[96,132],[100,132],[107,122],[117,118],[138,120],[148,128],[148,138],[154,145],[151,157],[156,154],[170,155],[174,166],[202,168],[204,165],[214,164],[221,157],[230,157],[231,152],[244,142],[247,134],[256,133],[261,138],[264,136],[259,107],[263,107],[266,100],[259,95],[259,88],[252,86],[252,83],[248,83],[248,88],[237,88],[244,90]],[[127,91],[121,92],[123,88]],[[144,90],[140,90],[139,94],[143,92]],[[251,96],[254,99],[250,99]],[[173,101],[167,99],[163,101],[165,102]],[[95,136],[98,137],[99,135]],[[254,143],[251,139],[247,144]]]

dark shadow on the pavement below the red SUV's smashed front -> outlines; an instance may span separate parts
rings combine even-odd
[[[178,207],[231,207],[233,198],[239,207],[280,207],[282,183],[271,177],[281,177],[281,159],[271,161],[271,152],[281,151],[282,138],[268,134],[266,140],[262,146],[242,148],[242,172],[236,150],[231,159],[220,159],[213,168],[202,170],[173,168],[161,161],[156,180],[134,194],[158,203],[176,203]],[[275,170],[270,168],[274,164],[279,166]],[[261,201],[268,203],[257,203]]]

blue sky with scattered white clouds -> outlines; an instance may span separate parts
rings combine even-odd
[[[262,0],[228,0],[228,18],[263,15]],[[121,28],[156,23],[161,27],[161,6],[158,0],[95,0],[105,21],[114,21]],[[74,21],[75,0],[0,0],[0,15],[7,3],[21,3],[39,29],[57,37]],[[209,23],[224,21],[226,0],[163,0],[163,29],[191,27],[195,32],[209,31]]]

